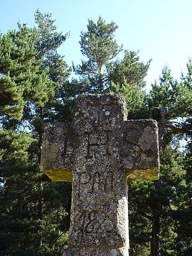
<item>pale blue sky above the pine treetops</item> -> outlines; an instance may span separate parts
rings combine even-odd
[[[18,20],[33,27],[34,12],[51,12],[58,32],[70,31],[70,37],[59,49],[68,65],[78,65],[82,55],[80,31],[87,31],[88,18],[96,22],[99,15],[116,22],[116,40],[124,50],[138,51],[140,60],[153,59],[146,77],[147,89],[159,79],[165,65],[180,80],[186,73],[186,62],[192,56],[191,0],[0,0],[2,33],[15,29]],[[122,57],[122,56],[121,56]]]

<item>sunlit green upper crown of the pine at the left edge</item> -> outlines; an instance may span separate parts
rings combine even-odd
[[[1,36],[0,45],[1,120],[19,120],[24,107],[43,106],[54,95],[53,84],[39,68],[42,61],[36,59],[33,29],[18,24],[18,31]]]

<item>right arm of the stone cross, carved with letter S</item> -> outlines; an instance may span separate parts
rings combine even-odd
[[[127,120],[121,133],[127,180],[159,179],[158,127],[155,120]]]

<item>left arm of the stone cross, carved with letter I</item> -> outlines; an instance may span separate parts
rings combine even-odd
[[[52,181],[72,181],[73,151],[80,140],[73,123],[47,123],[40,168]]]

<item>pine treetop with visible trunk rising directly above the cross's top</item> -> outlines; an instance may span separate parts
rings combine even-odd
[[[105,24],[105,20],[99,16],[97,23],[88,19],[88,31],[81,32],[81,53],[88,60],[82,60],[82,64],[73,69],[77,75],[87,79],[90,92],[103,93],[109,86],[106,66],[117,57],[122,50],[114,39],[114,32],[118,26],[111,22]]]

